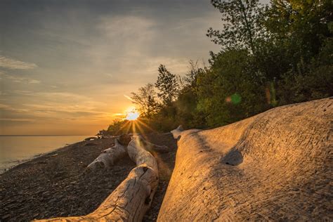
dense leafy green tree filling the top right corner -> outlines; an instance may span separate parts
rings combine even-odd
[[[285,48],[285,57],[294,70],[300,60],[308,63],[320,52],[325,39],[332,37],[332,0],[272,0],[265,26],[270,39]]]

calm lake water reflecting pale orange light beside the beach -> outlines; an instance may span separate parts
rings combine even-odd
[[[0,173],[27,159],[89,136],[0,136]]]

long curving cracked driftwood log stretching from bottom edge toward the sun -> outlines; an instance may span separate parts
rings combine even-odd
[[[159,181],[157,161],[143,147],[142,138],[133,138],[127,150],[129,157],[136,162],[136,168],[96,211],[86,216],[39,221],[142,221],[157,189]]]

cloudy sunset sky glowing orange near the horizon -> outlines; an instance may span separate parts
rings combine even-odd
[[[219,51],[207,0],[0,1],[0,134],[93,135],[157,79]]]

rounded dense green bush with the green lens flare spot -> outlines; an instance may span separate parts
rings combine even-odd
[[[206,115],[208,126],[230,124],[269,107],[249,58],[245,50],[220,53],[209,72],[198,77],[197,109]]]

